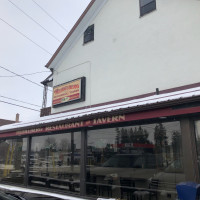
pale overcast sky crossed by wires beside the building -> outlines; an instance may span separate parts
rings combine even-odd
[[[42,72],[24,76],[40,84],[50,74],[44,67],[45,64],[89,2],[90,0],[0,0],[0,119],[15,120],[16,113],[20,114],[20,121],[39,117],[39,112],[2,102],[40,110],[43,97],[42,87],[20,77],[4,77],[13,74],[3,68],[20,75]],[[47,106],[51,106],[52,93],[48,94]]]

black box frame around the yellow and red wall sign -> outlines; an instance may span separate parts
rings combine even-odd
[[[68,82],[65,82],[65,83],[62,83],[60,85],[57,85],[53,88],[53,92],[54,90],[57,88],[57,87],[60,87],[62,85],[67,85],[67,84],[70,84],[71,82],[74,82],[74,81],[77,81],[77,80],[80,80],[80,97],[75,99],[75,100],[70,100],[70,101],[67,101],[67,102],[61,102],[61,103],[57,103],[57,104],[53,104],[53,96],[52,96],[52,107],[53,108],[56,108],[56,107],[60,107],[60,106],[65,106],[65,105],[70,105],[70,104],[74,104],[74,103],[78,103],[78,102],[82,102],[82,101],[85,101],[85,90],[86,90],[86,77],[80,77],[80,78],[77,78],[77,79],[74,79],[74,80],[71,80],[71,81],[68,81]],[[54,95],[54,94],[53,94]]]

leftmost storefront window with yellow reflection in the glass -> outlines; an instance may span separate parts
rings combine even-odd
[[[0,180],[24,183],[27,139],[0,140]]]

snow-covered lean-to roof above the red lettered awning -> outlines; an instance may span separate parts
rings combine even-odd
[[[46,126],[58,122],[70,122],[78,120],[88,120],[96,116],[110,115],[116,113],[139,112],[159,107],[179,105],[200,100],[200,87],[185,89],[176,92],[169,92],[160,95],[151,95],[149,97],[113,103],[109,105],[86,108],[82,110],[69,111],[38,118],[34,121],[20,122],[16,124],[0,127],[1,132],[10,130],[19,130],[34,126]],[[196,108],[195,108],[196,109]],[[166,113],[166,116],[170,113]]]

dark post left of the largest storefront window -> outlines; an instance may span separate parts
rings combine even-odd
[[[87,130],[81,130],[80,195],[86,195]]]

